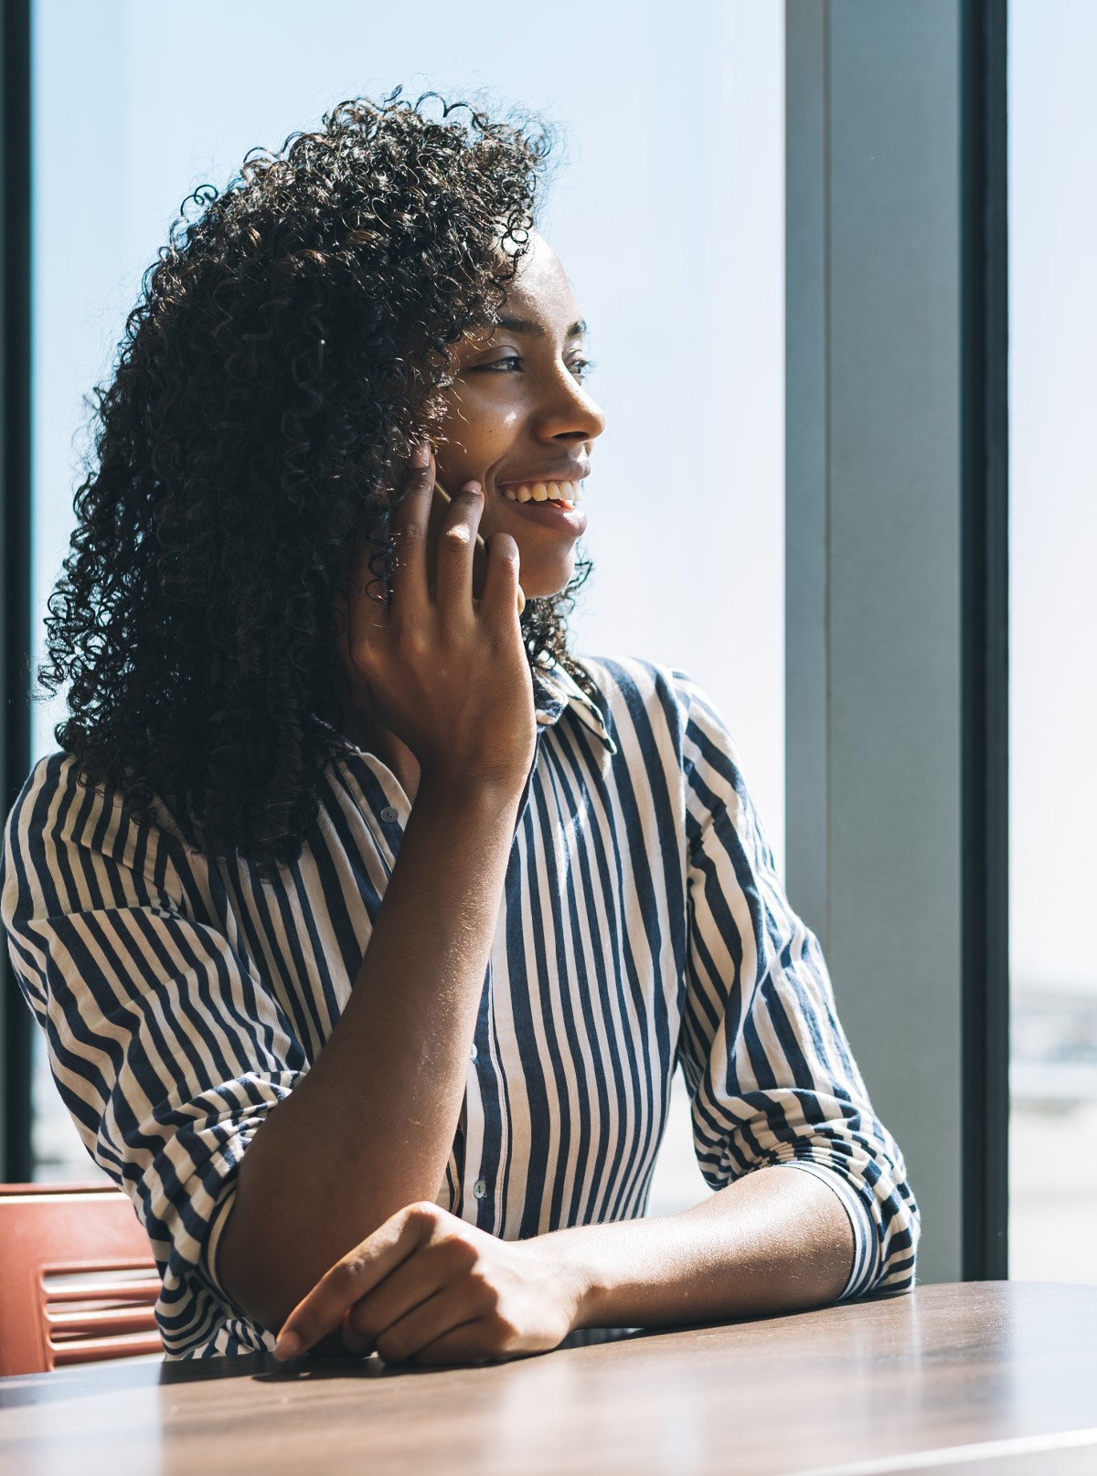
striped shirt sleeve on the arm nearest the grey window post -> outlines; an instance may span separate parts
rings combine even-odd
[[[775,1165],[839,1196],[855,1255],[843,1297],[914,1281],[918,1210],[834,1007],[815,934],[784,894],[735,745],[682,673],[688,837],[682,1066],[697,1160],[722,1188]]]

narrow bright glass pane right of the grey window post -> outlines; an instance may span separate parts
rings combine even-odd
[[[1010,1274],[1097,1281],[1097,9],[1010,3]]]

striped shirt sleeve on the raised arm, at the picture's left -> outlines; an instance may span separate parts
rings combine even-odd
[[[93,1160],[128,1194],[173,1356],[270,1346],[216,1275],[236,1169],[307,1070],[239,937],[189,918],[164,831],[41,760],[0,853],[0,915],[50,1069]]]

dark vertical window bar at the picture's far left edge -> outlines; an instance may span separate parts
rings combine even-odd
[[[3,797],[31,763],[31,0],[3,4]],[[31,1014],[0,946],[3,1178],[31,1178]]]

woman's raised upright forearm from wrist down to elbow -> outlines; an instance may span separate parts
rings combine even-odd
[[[520,797],[421,781],[350,1001],[241,1162],[217,1274],[267,1327],[397,1209],[437,1197]]]

